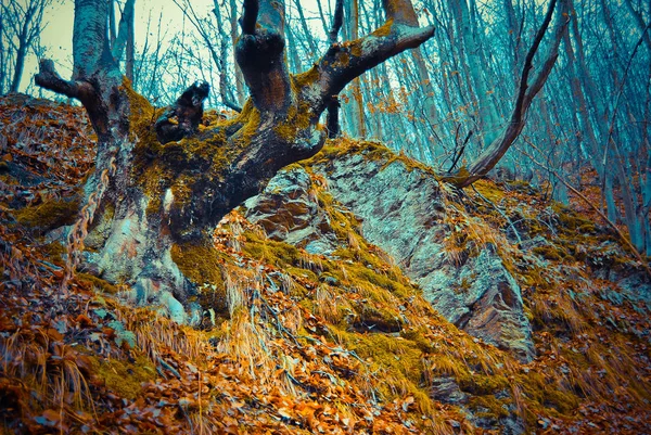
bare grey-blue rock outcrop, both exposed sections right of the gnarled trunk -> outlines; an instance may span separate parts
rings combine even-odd
[[[464,253],[461,261],[446,251],[451,230],[444,223],[447,212],[432,174],[392,159],[388,152],[369,158],[363,151],[317,161],[311,170],[362,220],[362,235],[391,254],[446,319],[522,360],[534,357],[520,287],[495,246],[487,243],[475,254]],[[247,217],[272,238],[328,255],[337,242],[310,183],[301,167],[281,171],[246,203]]]

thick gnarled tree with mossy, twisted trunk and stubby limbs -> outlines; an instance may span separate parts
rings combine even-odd
[[[191,86],[173,107],[154,108],[110,53],[107,2],[76,0],[72,79],[47,60],[35,77],[78,99],[98,136],[86,206],[68,235],[68,273],[86,239],[97,250],[93,267],[110,281],[132,284],[137,300],[157,298],[179,321],[188,320],[179,300],[201,312],[189,296],[215,277],[216,223],[280,168],[321,149],[321,113],[348,82],[433,36],[432,26],[419,27],[409,0],[387,0],[383,8],[383,26],[332,43],[309,71],[292,76],[284,2],[245,0],[234,50],[251,97],[235,118],[202,129],[207,85]]]

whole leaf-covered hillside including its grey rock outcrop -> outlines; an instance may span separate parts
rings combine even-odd
[[[202,308],[181,325],[90,260],[65,282],[92,146],[81,108],[0,99],[2,433],[651,431],[648,265],[595,216],[331,141],[218,255],[173,251]]]

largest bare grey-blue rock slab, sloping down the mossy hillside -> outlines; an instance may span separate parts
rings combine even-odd
[[[523,361],[535,355],[520,286],[495,247],[450,260],[444,241],[445,205],[438,182],[419,168],[394,161],[340,156],[316,166],[330,192],[362,220],[362,234],[391,254],[450,322]]]

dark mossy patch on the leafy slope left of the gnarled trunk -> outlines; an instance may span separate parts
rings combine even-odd
[[[73,225],[79,213],[79,200],[50,200],[27,206],[14,213],[18,223],[46,233],[65,225]]]

